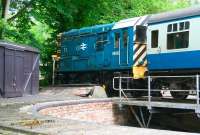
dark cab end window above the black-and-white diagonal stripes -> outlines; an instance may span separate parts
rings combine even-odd
[[[136,26],[136,39],[135,42],[139,42],[139,43],[146,43],[146,31],[147,31],[147,27],[146,26]]]

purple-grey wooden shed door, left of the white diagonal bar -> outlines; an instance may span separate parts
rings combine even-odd
[[[18,58],[14,50],[5,50],[5,97],[22,96],[20,80],[23,78],[23,58]]]

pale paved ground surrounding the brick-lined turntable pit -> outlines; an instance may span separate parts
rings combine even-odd
[[[50,101],[87,100],[74,96],[79,88],[47,88],[35,96],[0,99],[0,134],[48,134],[48,135],[195,135],[195,133],[100,124],[95,122],[34,114],[38,103]],[[90,99],[88,99],[90,100]],[[108,105],[109,106],[109,105]],[[106,107],[105,107],[106,108]],[[105,109],[106,110],[106,109]],[[107,113],[107,112],[105,112]],[[96,117],[96,116],[95,116]],[[92,118],[91,118],[92,119]]]

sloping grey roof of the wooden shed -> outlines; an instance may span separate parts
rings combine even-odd
[[[36,49],[36,48],[30,47],[30,46],[27,46],[27,45],[3,41],[3,40],[0,40],[0,47],[39,53],[39,50]]]

